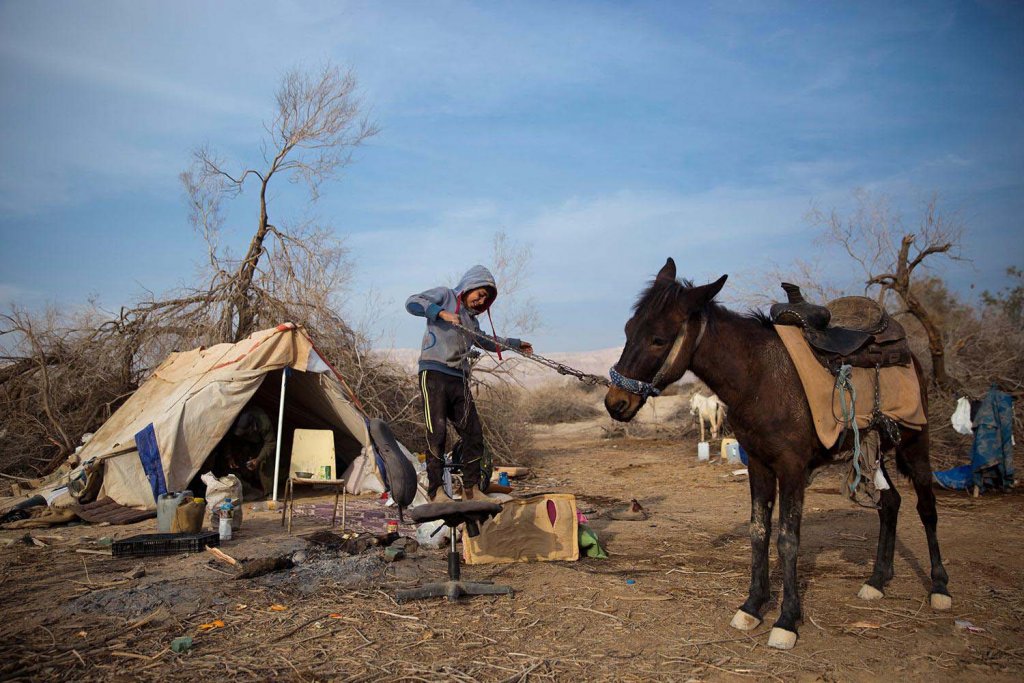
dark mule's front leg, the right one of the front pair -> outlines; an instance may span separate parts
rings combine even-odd
[[[797,644],[797,624],[802,618],[797,555],[800,553],[800,521],[804,514],[807,475],[801,467],[790,467],[779,475],[778,559],[782,564],[782,611],[768,636],[768,647],[787,650]]]

